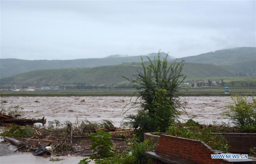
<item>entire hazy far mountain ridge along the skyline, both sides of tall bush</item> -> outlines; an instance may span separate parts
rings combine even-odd
[[[157,53],[150,53],[147,56],[154,59]],[[161,58],[166,53],[161,52]],[[118,65],[122,63],[141,63],[147,61],[146,55],[122,57],[122,55],[110,55],[106,58],[75,59],[75,60],[22,60],[22,59],[0,59],[0,78],[13,76],[16,74],[41,69],[55,68],[88,68],[99,66]],[[174,57],[169,56],[170,62],[175,61]],[[173,59],[173,60],[171,60]],[[214,52],[203,53],[196,56],[189,56],[182,59],[185,63],[206,63],[214,64],[219,68],[232,72],[234,75],[256,74],[256,47],[238,47],[233,49],[217,50]],[[185,65],[186,65],[185,64]],[[199,67],[198,67],[199,69]],[[213,73],[214,75],[214,73]]]

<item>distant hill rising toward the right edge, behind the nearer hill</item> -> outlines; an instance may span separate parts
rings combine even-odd
[[[188,63],[212,63],[237,75],[256,73],[256,47],[239,47],[179,58]]]

